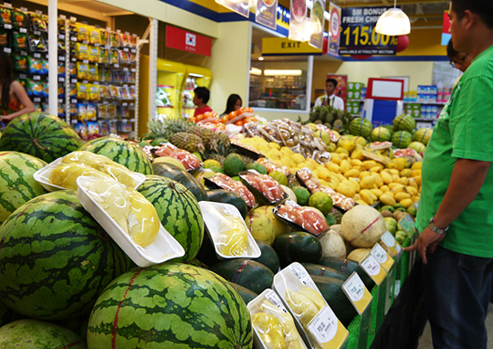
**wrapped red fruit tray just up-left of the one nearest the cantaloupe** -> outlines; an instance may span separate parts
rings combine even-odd
[[[277,204],[279,201],[287,198],[287,194],[282,186],[274,178],[267,174],[259,174],[255,170],[248,170],[239,173],[239,177],[247,187],[250,185],[250,191],[257,191],[259,201],[266,204]],[[254,193],[255,195],[255,193]]]

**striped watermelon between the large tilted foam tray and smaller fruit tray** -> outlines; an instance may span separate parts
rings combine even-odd
[[[204,239],[204,220],[192,192],[173,179],[153,174],[137,190],[156,207],[163,227],[184,247],[184,257],[175,260],[194,259]]]

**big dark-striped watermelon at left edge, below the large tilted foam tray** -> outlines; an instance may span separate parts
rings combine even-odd
[[[35,197],[0,227],[0,299],[28,317],[89,312],[130,264],[73,190]]]

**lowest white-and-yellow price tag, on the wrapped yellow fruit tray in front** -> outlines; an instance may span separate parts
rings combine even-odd
[[[329,306],[324,307],[309,322],[308,330],[324,348],[341,348],[349,336],[348,330],[342,326]]]

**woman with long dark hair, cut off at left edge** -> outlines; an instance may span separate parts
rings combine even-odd
[[[0,52],[0,127],[4,127],[17,116],[35,111],[33,102],[19,81],[14,79],[12,60]]]

